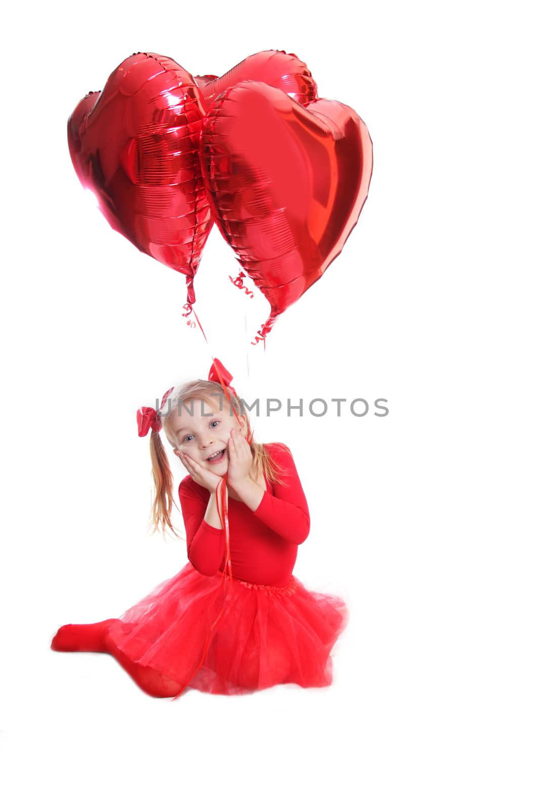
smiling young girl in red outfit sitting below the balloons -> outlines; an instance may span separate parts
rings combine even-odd
[[[342,599],[292,573],[310,527],[304,490],[286,445],[249,436],[231,382],[216,358],[208,380],[169,389],[159,411],[137,414],[139,436],[151,429],[155,530],[176,535],[161,428],[188,472],[178,495],[189,562],[120,618],[63,625],[51,643],[112,654],[154,697],[327,686],[348,622]]]

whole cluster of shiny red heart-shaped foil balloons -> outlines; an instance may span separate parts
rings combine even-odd
[[[317,97],[294,53],[262,51],[194,76],[134,53],[70,115],[83,186],[139,250],[193,279],[217,224],[270,303],[258,342],[341,253],[368,196],[372,140],[351,107]],[[253,296],[253,293],[250,293]]]

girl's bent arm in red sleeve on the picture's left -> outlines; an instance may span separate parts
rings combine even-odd
[[[184,518],[188,560],[199,573],[213,577],[225,554],[217,497],[210,492],[208,502],[203,500],[189,476],[181,481],[178,497]],[[226,497],[228,502],[228,493]]]

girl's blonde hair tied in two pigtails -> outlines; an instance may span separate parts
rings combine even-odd
[[[251,437],[249,416],[240,408],[240,399],[232,393],[230,388],[227,388],[227,394],[231,398],[230,404],[228,405],[229,413],[233,414],[236,412],[237,415],[243,415],[245,417],[246,427],[248,428],[248,437]],[[161,416],[162,428],[167,436],[169,444],[176,447],[175,442],[168,433],[167,424],[169,417],[178,407],[178,403],[183,403],[188,399],[202,399],[204,402],[209,404],[210,407],[212,407],[209,400],[215,399],[216,397],[219,397],[219,395],[221,395],[222,398],[220,403],[223,401],[222,407],[227,407],[227,396],[219,382],[214,382],[213,380],[193,380],[192,382],[186,382],[183,386],[176,387],[172,391],[172,394],[170,394],[169,398],[165,401],[163,408],[157,411],[159,416]],[[168,410],[166,410],[167,407]],[[181,509],[178,505],[176,505],[176,501],[172,495],[174,477],[168,463],[168,456],[165,452],[160,433],[161,431],[158,432],[152,430],[150,438],[154,501],[151,506],[151,520],[149,523],[149,528],[152,528],[151,534],[154,534],[155,531],[159,531],[159,533],[165,537],[166,531],[169,530],[172,531],[172,534],[176,537],[181,537],[181,535],[177,534],[174,526],[172,525],[172,505],[174,504],[179,512],[181,512]],[[285,445],[280,446],[283,447],[283,450],[288,450]],[[259,444],[258,441],[254,441],[252,438],[251,452],[253,455],[254,469],[252,468],[253,474],[250,473],[250,478],[256,481],[260,477],[261,473],[263,473],[266,475],[266,478],[270,484],[283,484],[283,480],[279,477],[279,474],[283,473],[284,469],[278,463],[276,463],[273,458],[270,457],[265,445]]]

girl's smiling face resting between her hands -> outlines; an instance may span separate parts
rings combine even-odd
[[[193,411],[193,416],[189,411]],[[236,428],[247,438],[247,420],[244,415],[231,416],[229,403],[223,394],[223,408],[219,409],[219,397],[209,400],[189,399],[182,407],[173,408],[167,420],[167,433],[180,458],[182,450],[189,458],[196,461],[216,475],[225,475],[228,468],[228,440],[231,428]],[[223,452],[222,452],[223,451]],[[215,455],[215,454],[218,455]],[[215,455],[215,458],[210,456]]]

